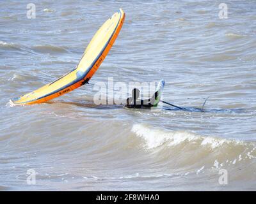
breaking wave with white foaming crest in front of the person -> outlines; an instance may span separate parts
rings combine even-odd
[[[134,124],[132,132],[142,138],[145,150],[154,154],[159,163],[175,168],[186,168],[198,174],[203,171],[244,166],[255,166],[255,142],[245,142],[196,135],[187,131],[168,131],[144,124]],[[254,173],[253,168],[248,171]],[[249,172],[252,171],[252,172]],[[244,173],[245,177],[247,173]]]

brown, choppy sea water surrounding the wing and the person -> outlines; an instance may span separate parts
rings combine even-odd
[[[1,190],[255,191],[255,1],[225,1],[225,19],[220,1],[33,1],[35,19],[28,3],[0,2]],[[125,24],[90,85],[8,104],[74,68],[118,8]],[[179,106],[209,100],[205,112],[94,106],[93,84],[108,77],[164,78],[163,99]]]

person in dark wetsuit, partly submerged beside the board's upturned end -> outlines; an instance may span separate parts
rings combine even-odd
[[[141,100],[140,97],[140,90],[139,89],[132,89],[132,97],[126,99],[127,108],[150,108],[154,106],[154,102],[157,99],[157,92],[152,96],[152,98]]]

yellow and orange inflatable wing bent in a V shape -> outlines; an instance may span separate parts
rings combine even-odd
[[[36,91],[11,99],[10,102],[13,105],[44,103],[88,83],[108,55],[124,24],[124,19],[125,13],[120,9],[100,27],[75,69]]]

